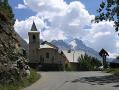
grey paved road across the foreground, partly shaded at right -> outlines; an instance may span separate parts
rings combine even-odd
[[[102,72],[40,72],[24,90],[119,90],[119,78]]]

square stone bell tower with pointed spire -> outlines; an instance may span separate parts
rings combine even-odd
[[[40,48],[40,32],[37,31],[36,25],[33,22],[31,31],[28,32],[29,36],[29,63],[37,63],[38,50]]]

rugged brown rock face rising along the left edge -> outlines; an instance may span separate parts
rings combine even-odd
[[[4,0],[0,2],[0,84],[22,79],[26,69],[23,41],[13,25],[14,15],[8,0]]]

